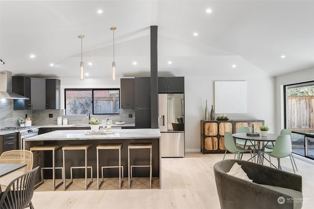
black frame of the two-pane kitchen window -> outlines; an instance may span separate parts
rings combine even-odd
[[[64,109],[65,109],[65,115],[66,116],[83,116],[84,114],[67,114],[66,107],[67,107],[67,100],[66,100],[66,91],[92,91],[92,113],[91,115],[120,115],[120,103],[121,103],[121,90],[120,88],[86,88],[86,89],[74,89],[74,88],[69,88],[69,89],[64,89]],[[104,114],[99,114],[99,113],[94,113],[94,91],[119,91],[119,113],[104,113]]]

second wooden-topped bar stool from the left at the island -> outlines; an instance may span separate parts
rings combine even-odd
[[[64,191],[67,187],[69,187],[73,183],[72,169],[76,168],[84,168],[85,169],[85,189],[87,190],[88,186],[90,186],[93,182],[93,167],[87,166],[87,150],[92,147],[92,144],[70,144],[62,147],[63,154],[63,176],[64,176]],[[85,151],[85,166],[72,166],[71,169],[71,182],[66,185],[66,176],[65,176],[65,151],[66,150],[84,150]],[[91,182],[87,184],[87,168],[90,168],[90,177]]]

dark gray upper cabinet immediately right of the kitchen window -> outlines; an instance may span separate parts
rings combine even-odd
[[[121,109],[134,109],[134,78],[120,80]]]

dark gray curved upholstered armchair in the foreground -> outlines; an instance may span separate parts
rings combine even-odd
[[[230,174],[238,163],[253,182]],[[221,209],[301,209],[302,176],[241,160],[213,167]]]

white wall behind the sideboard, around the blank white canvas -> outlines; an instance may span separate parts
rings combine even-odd
[[[273,77],[267,75],[230,75],[230,76],[186,76],[185,77],[185,149],[200,151],[201,120],[205,119],[206,99],[209,108],[214,104],[215,80],[247,81],[247,114],[229,114],[230,119],[261,119],[270,126],[269,133],[274,133],[275,123],[275,91]],[[217,116],[217,115],[216,115]]]

